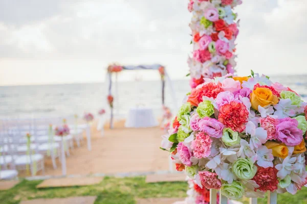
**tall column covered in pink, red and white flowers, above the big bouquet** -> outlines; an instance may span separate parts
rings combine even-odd
[[[190,0],[193,52],[188,64],[191,88],[202,84],[204,77],[212,79],[234,73],[239,23],[233,9],[240,4],[241,0]]]

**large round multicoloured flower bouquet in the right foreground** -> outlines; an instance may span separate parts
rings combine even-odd
[[[201,188],[230,199],[307,184],[306,103],[266,75],[205,79],[188,95],[162,147]]]

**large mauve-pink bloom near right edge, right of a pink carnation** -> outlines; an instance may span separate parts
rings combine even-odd
[[[303,134],[298,129],[298,121],[293,118],[279,119],[276,125],[276,138],[288,146],[299,145],[303,139]]]

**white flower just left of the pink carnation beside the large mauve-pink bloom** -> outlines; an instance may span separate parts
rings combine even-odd
[[[250,144],[252,148],[258,148],[267,142],[268,132],[262,127],[256,128],[252,121],[246,124],[246,133],[251,135]]]

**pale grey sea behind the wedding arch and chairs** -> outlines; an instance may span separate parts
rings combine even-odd
[[[276,75],[273,82],[289,86],[307,99],[307,75]],[[67,117],[84,112],[98,114],[105,109],[106,83],[0,86],[0,117]],[[117,90],[117,91],[116,91]],[[188,80],[166,83],[165,105],[176,112],[190,91]],[[125,118],[129,109],[147,107],[157,117],[162,114],[161,81],[119,82],[113,84],[115,117]]]

